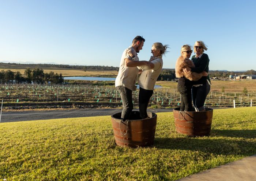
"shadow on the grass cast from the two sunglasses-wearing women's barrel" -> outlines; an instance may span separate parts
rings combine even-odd
[[[234,138],[256,138],[256,130],[219,130],[211,129],[211,135],[234,137]]]

